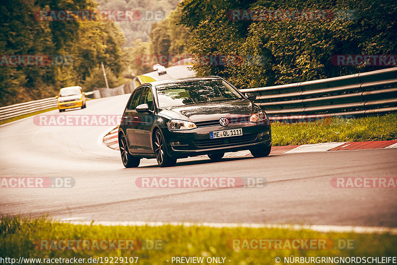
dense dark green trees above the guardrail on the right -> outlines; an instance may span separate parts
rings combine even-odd
[[[394,0],[185,0],[181,23],[192,28],[187,51],[196,56],[259,56],[262,64],[196,64],[199,76],[219,75],[238,88],[265,87],[373,71],[385,67],[335,66],[333,55],[396,54]],[[350,12],[327,20],[231,20],[234,9],[307,9]]]

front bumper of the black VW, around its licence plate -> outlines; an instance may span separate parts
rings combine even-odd
[[[242,136],[210,139],[209,132],[242,128]],[[161,128],[165,138],[167,153],[173,158],[184,158],[220,152],[237,152],[248,150],[256,146],[271,146],[271,128],[269,124],[254,122],[223,126],[205,126],[192,130],[170,131]],[[179,142],[180,145],[171,145]]]

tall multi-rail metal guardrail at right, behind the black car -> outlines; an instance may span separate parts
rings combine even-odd
[[[397,67],[302,83],[241,89],[274,121],[397,111]]]

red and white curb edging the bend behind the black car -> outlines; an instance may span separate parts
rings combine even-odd
[[[119,141],[117,132],[119,127],[114,128],[103,137],[103,143],[111,149],[119,149]],[[325,152],[325,151],[348,151],[348,150],[367,150],[367,149],[383,149],[383,148],[397,148],[397,140],[391,141],[367,141],[367,142],[337,142],[337,143],[323,143],[310,145],[287,145],[287,146],[273,146],[270,154],[292,154],[292,153],[310,153],[310,152]],[[243,150],[234,153],[226,153],[225,157],[244,157],[250,156],[248,150]]]

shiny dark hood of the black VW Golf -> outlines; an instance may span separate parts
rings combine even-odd
[[[214,101],[164,108],[160,113],[173,119],[186,120],[187,117],[193,122],[218,120],[222,117],[230,119],[232,117],[251,115],[252,103],[245,98],[230,101]]]

